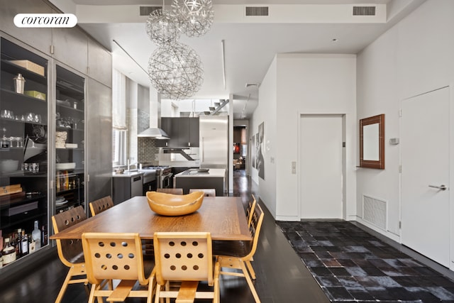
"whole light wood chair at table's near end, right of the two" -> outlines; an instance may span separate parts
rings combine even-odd
[[[210,233],[157,232],[153,242],[157,282],[155,303],[163,298],[176,298],[178,303],[194,302],[194,299],[219,302],[219,266],[214,264],[211,253]],[[213,290],[197,290],[200,281],[206,281]],[[173,282],[181,282],[177,290],[172,290]]]

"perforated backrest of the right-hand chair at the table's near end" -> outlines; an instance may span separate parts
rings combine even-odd
[[[156,282],[208,281],[213,285],[211,235],[205,232],[157,232],[155,246]]]

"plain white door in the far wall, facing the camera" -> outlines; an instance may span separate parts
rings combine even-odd
[[[300,217],[342,219],[342,117],[300,121]]]

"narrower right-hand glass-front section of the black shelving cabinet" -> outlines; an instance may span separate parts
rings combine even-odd
[[[85,79],[56,65],[55,212],[84,205]]]

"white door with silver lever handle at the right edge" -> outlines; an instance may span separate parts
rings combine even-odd
[[[449,89],[402,101],[402,244],[449,266]]]

